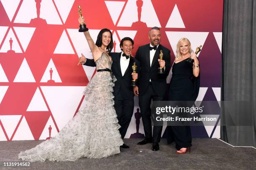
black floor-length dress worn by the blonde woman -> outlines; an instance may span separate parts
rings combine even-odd
[[[169,87],[168,100],[195,101],[200,87],[200,76],[193,75],[193,68],[185,60],[172,66],[172,79]],[[168,126],[167,143],[175,141],[176,148],[192,146],[190,126]]]

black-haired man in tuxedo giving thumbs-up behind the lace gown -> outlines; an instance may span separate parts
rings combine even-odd
[[[134,107],[134,94],[133,86],[131,86],[132,79],[138,79],[138,73],[133,73],[132,65],[136,62],[137,67],[140,67],[140,63],[135,58],[131,57],[133,50],[133,40],[130,37],[124,37],[120,42],[120,48],[122,52],[110,52],[112,57],[111,70],[115,75],[117,81],[113,87],[113,95],[115,101],[115,111],[118,118],[118,123],[121,126],[119,129],[122,139],[125,137],[126,131],[131,122],[133,116]],[[84,56],[80,57],[79,62],[83,65],[95,67],[93,59],[85,59]],[[137,70],[138,72],[139,70]],[[129,146],[123,144],[121,148],[129,148]]]

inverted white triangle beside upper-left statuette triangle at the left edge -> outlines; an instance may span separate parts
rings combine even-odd
[[[26,52],[28,44],[36,30],[36,28],[31,27],[13,27],[15,30],[20,44],[23,47],[23,50]]]

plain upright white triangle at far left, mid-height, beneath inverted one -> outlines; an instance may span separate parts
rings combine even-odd
[[[20,69],[14,79],[13,82],[36,82],[29,66],[26,58],[24,58],[22,64],[20,65]]]

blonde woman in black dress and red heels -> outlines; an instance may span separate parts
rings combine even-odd
[[[177,55],[172,66],[172,79],[169,87],[170,101],[195,101],[200,87],[200,68],[197,55],[192,51],[187,38],[177,43]],[[186,60],[191,57],[194,62]],[[192,146],[190,126],[168,126],[167,143],[175,141],[177,153],[186,153]]]

